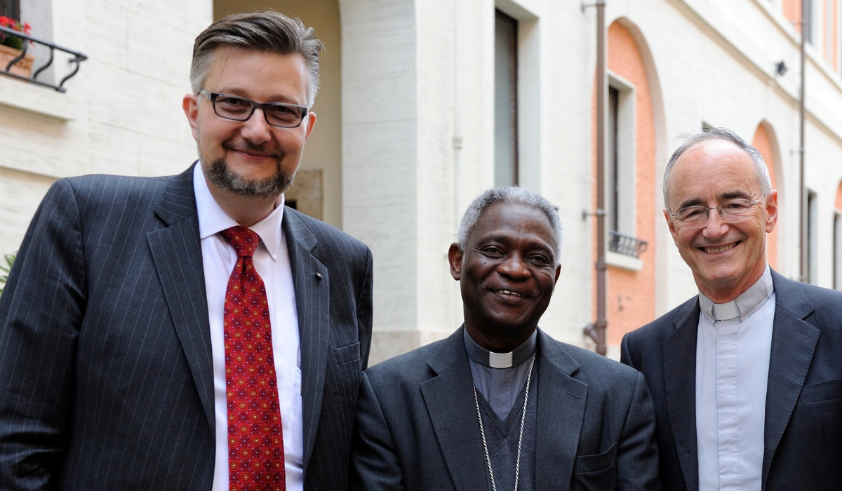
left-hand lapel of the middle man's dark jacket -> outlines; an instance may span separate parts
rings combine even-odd
[[[489,485],[488,466],[462,329],[427,361],[436,376],[421,384],[421,395],[456,488],[484,491]]]

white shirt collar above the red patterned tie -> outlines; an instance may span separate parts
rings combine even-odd
[[[226,228],[237,227],[236,220],[228,216],[213,195],[210,194],[205,173],[202,172],[201,163],[197,163],[193,169],[193,192],[196,195],[196,211],[199,215],[199,237],[210,237],[222,232]],[[280,205],[274,209],[269,216],[248,227],[260,236],[260,241],[272,256],[277,260],[280,241],[282,240],[281,223],[284,221],[284,195],[280,195]]]

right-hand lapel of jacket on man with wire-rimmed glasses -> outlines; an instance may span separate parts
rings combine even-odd
[[[775,271],[772,271],[772,282],[775,285],[775,323],[766,382],[763,488],[772,457],[801,394],[820,333],[818,328],[803,320],[813,312],[813,307],[798,283]]]

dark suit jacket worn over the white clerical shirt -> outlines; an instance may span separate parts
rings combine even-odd
[[[842,292],[772,271],[775,323],[766,392],[763,489],[842,488]],[[698,297],[626,334],[622,361],[646,376],[663,487],[699,488],[695,439]]]

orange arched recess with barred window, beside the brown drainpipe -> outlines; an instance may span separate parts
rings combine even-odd
[[[640,31],[627,19],[618,19],[609,26],[605,228],[609,233],[606,340],[610,356],[617,355],[624,334],[655,318],[656,308],[655,227],[659,186],[653,74],[647,72],[646,45],[638,39],[641,39]],[[595,109],[594,94],[594,123]],[[595,131],[594,126],[594,183]],[[594,188],[594,196],[595,191]],[[594,234],[595,229],[594,223]]]

